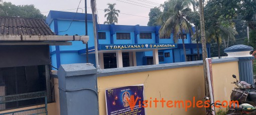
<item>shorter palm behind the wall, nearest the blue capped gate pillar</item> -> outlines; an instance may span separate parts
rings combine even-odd
[[[218,45],[218,57],[220,58],[220,43],[222,40],[229,40],[229,38],[235,40],[234,35],[238,34],[237,31],[229,24],[216,23],[210,26],[206,31],[206,37],[209,40],[215,40]]]

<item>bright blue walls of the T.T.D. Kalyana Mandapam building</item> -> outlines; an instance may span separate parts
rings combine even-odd
[[[92,15],[88,14],[88,47],[94,48],[94,33]],[[50,28],[58,35],[85,35],[85,18],[84,13],[65,12],[65,11],[50,11],[46,19]],[[175,43],[173,34],[168,39],[159,38],[160,26],[140,26],[140,25],[115,25],[115,24],[97,24],[98,32],[105,32],[106,39],[98,39],[98,44],[136,44],[136,43]],[[128,32],[131,39],[116,39],[116,32]],[[151,39],[141,39],[140,33],[151,33]],[[197,53],[196,45],[191,43],[190,34],[187,33],[186,53]],[[52,65],[58,67],[59,64],[83,63],[86,62],[86,55],[80,54],[79,51],[85,50],[86,45],[82,41],[70,41],[69,46],[50,46]],[[177,43],[182,43],[182,39],[178,39]],[[59,50],[58,50],[59,47]],[[201,45],[200,45],[201,47]],[[209,46],[207,46],[209,47]],[[170,52],[170,57],[165,57],[164,61],[159,63],[181,62],[184,61],[184,53],[182,45],[178,45],[176,49],[159,50]],[[152,57],[152,51],[136,52],[137,65],[146,65],[147,57]],[[200,49],[200,53],[202,53]],[[95,54],[89,54],[89,62],[95,65]],[[57,64],[59,63],[59,64]]]

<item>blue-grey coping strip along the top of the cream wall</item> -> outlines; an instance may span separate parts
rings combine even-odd
[[[232,61],[238,61],[238,58],[212,59],[212,63],[222,63],[222,62],[232,62]],[[126,74],[126,73],[133,73],[133,72],[144,72],[144,71],[152,71],[152,70],[179,68],[179,67],[187,67],[187,66],[198,66],[198,65],[203,65],[203,60],[154,64],[154,65],[142,65],[142,66],[130,66],[130,67],[122,67],[122,68],[98,69],[97,77]]]

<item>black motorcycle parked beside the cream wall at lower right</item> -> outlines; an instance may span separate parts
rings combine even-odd
[[[245,81],[238,81],[234,74],[232,76],[236,81],[231,83],[237,87],[232,89],[230,99],[234,103],[228,106],[227,114],[256,114],[256,88]]]

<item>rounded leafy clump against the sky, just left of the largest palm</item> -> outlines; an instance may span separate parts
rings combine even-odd
[[[162,11],[160,10],[159,7],[151,8],[150,12],[149,12],[150,19],[149,19],[149,22],[148,22],[148,26],[159,25],[157,23],[157,19],[160,17],[161,13],[162,13]]]

